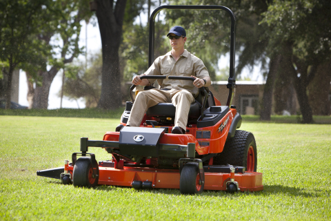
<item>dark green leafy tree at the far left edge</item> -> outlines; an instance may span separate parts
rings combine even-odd
[[[6,97],[6,108],[10,108],[10,88],[12,73],[15,68],[24,64],[46,66],[40,55],[48,54],[46,45],[32,35],[49,21],[47,14],[52,10],[52,1],[8,1],[0,2],[0,61],[1,75],[6,77],[3,95]],[[39,50],[34,50],[36,48]]]

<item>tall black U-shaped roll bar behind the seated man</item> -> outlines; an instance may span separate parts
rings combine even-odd
[[[231,18],[231,36],[230,36],[230,76],[228,78],[227,88],[229,89],[228,101],[226,102],[227,106],[231,106],[232,98],[234,97],[234,88],[236,87],[236,75],[234,70],[235,63],[235,38],[236,38],[236,18],[232,10],[226,8],[225,6],[160,6],[156,8],[152,15],[150,15],[150,34],[149,34],[149,48],[148,48],[148,68],[153,64],[154,61],[154,25],[155,18],[157,14],[164,9],[192,9],[192,10],[225,10],[228,12]]]

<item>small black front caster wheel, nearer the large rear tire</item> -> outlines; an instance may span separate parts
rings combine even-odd
[[[183,166],[183,169],[181,170],[179,190],[183,194],[201,193],[203,191],[203,187],[205,186],[205,184],[204,182],[201,182],[199,184],[199,180],[200,180],[199,164],[193,162],[186,163]]]

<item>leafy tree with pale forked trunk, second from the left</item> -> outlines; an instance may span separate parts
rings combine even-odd
[[[81,30],[80,21],[90,17],[88,10],[88,1],[71,0],[56,1],[54,8],[58,13],[52,13],[49,16],[52,20],[48,28],[42,30],[36,37],[45,44],[52,47],[52,56],[43,57],[44,62],[48,64],[46,68],[39,69],[37,72],[28,71],[29,79],[37,82],[35,88],[29,86],[29,92],[33,94],[32,108],[48,108],[48,96],[52,81],[65,64],[73,61],[83,48],[79,48],[79,34]],[[31,75],[32,74],[32,75]]]

